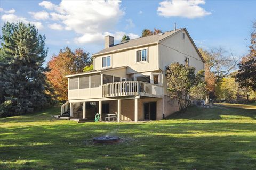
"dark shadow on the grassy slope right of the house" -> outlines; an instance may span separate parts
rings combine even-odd
[[[224,106],[213,106],[204,108],[190,106],[185,113],[176,112],[166,117],[167,119],[189,119],[189,120],[220,120],[228,118],[228,115],[237,116],[237,119],[251,118],[256,119],[256,109],[231,108]],[[227,116],[227,117],[226,117]]]

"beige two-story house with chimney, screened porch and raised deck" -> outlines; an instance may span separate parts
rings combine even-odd
[[[103,42],[102,42],[103,43]],[[174,62],[188,63],[196,71],[204,61],[186,28],[114,44],[92,55],[93,71],[67,75],[68,101],[61,106],[70,117],[101,120],[161,120],[178,111],[169,97],[165,69]],[[116,116],[115,116],[116,115]]]

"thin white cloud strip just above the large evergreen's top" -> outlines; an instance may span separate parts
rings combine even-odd
[[[24,17],[19,17],[17,15],[14,15],[14,14],[4,14],[1,19],[4,21],[4,22],[19,22],[19,21],[22,21],[24,23],[31,23],[31,24],[34,24],[36,26],[36,28],[38,30],[42,29],[43,28],[43,25],[41,22],[34,22],[34,21],[27,21],[26,18]]]

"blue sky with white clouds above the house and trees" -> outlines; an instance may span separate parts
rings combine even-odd
[[[247,53],[256,1],[0,1],[4,22],[32,22],[46,35],[46,61],[66,46],[90,54],[103,48],[103,36],[137,38],[145,28],[186,27],[198,48],[222,46]]]

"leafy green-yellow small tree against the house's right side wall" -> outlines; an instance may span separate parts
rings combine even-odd
[[[179,110],[185,112],[193,99],[205,98],[203,71],[195,74],[195,67],[172,63],[166,67],[169,95],[178,101]]]

